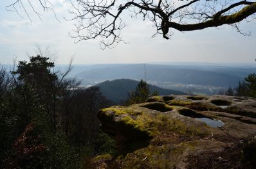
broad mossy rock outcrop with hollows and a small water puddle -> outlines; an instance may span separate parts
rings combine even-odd
[[[118,168],[244,168],[251,165],[244,149],[256,147],[250,97],[156,96],[102,109],[98,118],[116,140]]]

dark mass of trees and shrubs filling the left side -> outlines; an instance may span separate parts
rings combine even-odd
[[[37,55],[0,68],[0,168],[80,168],[84,156],[115,154],[96,118],[111,102],[54,67]]]

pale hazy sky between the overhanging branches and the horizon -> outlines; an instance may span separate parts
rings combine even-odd
[[[15,12],[7,12],[5,6],[12,3],[0,1],[0,63],[27,60],[27,52],[33,54],[35,44],[42,48],[50,47],[57,52],[57,63],[68,63],[75,56],[74,63],[149,63],[149,62],[214,62],[214,63],[253,63],[256,52],[256,20],[242,22],[243,31],[251,31],[251,36],[242,36],[229,26],[208,28],[201,31],[180,33],[175,31],[171,40],[154,34],[152,23],[127,18],[123,29],[123,39],[129,44],[119,44],[114,49],[100,49],[99,40],[73,43],[68,36],[73,22],[69,17],[68,3],[64,0],[51,0],[55,5],[58,22],[52,12],[42,13],[42,20],[31,13],[32,23],[26,15],[24,19]],[[36,1],[35,1],[36,2]],[[37,5],[37,4],[35,4]]]

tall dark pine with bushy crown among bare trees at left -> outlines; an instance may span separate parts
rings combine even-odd
[[[55,67],[54,63],[49,61],[50,58],[40,55],[30,57],[30,61],[19,61],[17,70],[13,71],[13,76],[21,81],[19,85],[26,92],[31,90],[33,99],[40,102],[41,106],[47,112],[48,121],[56,129],[57,115],[57,75],[51,72]],[[27,92],[26,92],[27,93]],[[24,98],[29,98],[24,93]],[[27,101],[29,104],[29,101]]]

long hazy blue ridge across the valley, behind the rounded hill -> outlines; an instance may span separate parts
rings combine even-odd
[[[146,79],[158,82],[234,87],[239,80],[253,70],[255,68],[146,65]],[[115,65],[86,70],[76,76],[94,81],[122,78],[139,80],[144,77],[144,67],[143,64]]]

